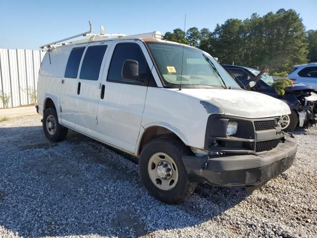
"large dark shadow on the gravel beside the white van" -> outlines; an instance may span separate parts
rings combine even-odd
[[[19,236],[139,237],[217,220],[248,196],[242,187],[202,184],[189,199],[164,204],[144,189],[130,155],[73,131],[51,143],[41,126],[6,130],[0,151],[16,148],[0,159],[0,226]]]

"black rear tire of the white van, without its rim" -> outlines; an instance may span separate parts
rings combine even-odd
[[[49,118],[52,118],[52,117],[55,120],[54,132],[50,132],[49,129],[47,128],[47,121]],[[45,110],[43,115],[43,131],[45,136],[49,139],[49,141],[57,142],[57,141],[61,141],[65,139],[68,128],[58,123],[58,118],[57,118],[57,113],[55,108],[48,108],[47,110]]]

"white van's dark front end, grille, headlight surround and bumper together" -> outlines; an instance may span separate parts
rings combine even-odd
[[[230,121],[237,121],[236,133],[232,135],[227,130]],[[182,157],[190,181],[216,186],[240,185],[252,190],[293,165],[297,140],[281,131],[278,117],[247,119],[211,115],[204,150],[192,150],[196,156]]]

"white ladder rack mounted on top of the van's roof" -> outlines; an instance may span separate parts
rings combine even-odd
[[[153,40],[161,40],[163,38],[162,33],[159,31],[153,31],[153,32],[147,32],[147,33],[142,33],[142,34],[136,34],[136,35],[125,35],[125,34],[105,34],[105,28],[104,26],[101,26],[101,33],[100,34],[91,34],[92,32],[92,23],[89,21],[90,25],[90,30],[84,33],[80,33],[75,36],[67,37],[62,40],[58,40],[46,45],[41,46],[40,48],[43,51],[47,51],[52,48],[60,47],[60,46],[65,46],[65,45],[74,45],[74,44],[81,44],[81,43],[89,43],[89,42],[96,42],[96,41],[106,41],[106,40],[118,40],[118,39],[153,39]],[[68,43],[62,43],[65,41],[68,41],[70,39],[74,39],[77,37],[89,37],[86,39],[82,40],[77,40],[77,41],[71,41]]]

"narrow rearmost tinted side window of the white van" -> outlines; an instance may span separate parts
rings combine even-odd
[[[78,67],[84,50],[85,47],[75,47],[71,50],[66,65],[65,78],[77,78]]]

